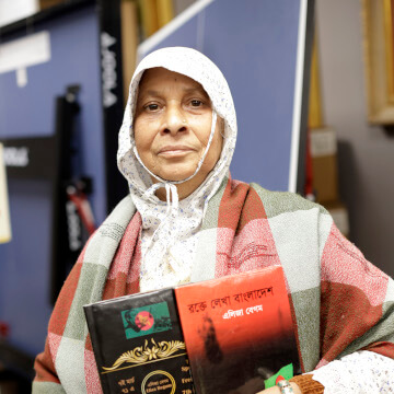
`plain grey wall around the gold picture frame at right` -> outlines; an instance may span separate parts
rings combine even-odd
[[[325,123],[336,129],[350,239],[394,277],[394,134],[367,121],[360,0],[316,0]]]

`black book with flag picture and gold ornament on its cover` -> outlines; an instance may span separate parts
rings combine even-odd
[[[173,289],[84,306],[105,394],[194,393]]]

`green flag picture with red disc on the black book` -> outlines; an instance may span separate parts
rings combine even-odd
[[[172,328],[166,302],[135,308],[120,313],[127,339]]]

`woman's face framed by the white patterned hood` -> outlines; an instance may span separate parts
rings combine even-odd
[[[207,147],[211,124],[211,103],[198,82],[164,68],[143,73],[134,131],[138,153],[153,174],[166,181],[193,175]],[[185,183],[192,188],[188,194],[202,183],[220,158],[221,129],[222,119],[218,118],[201,169]]]

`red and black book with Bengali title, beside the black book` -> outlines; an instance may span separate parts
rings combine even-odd
[[[175,296],[198,394],[255,394],[301,373],[280,266],[182,286]]]

